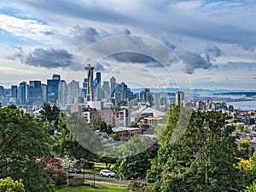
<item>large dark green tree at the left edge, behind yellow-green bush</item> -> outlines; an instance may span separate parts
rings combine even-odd
[[[0,178],[23,180],[26,191],[53,191],[55,185],[36,161],[49,154],[47,125],[20,109],[0,109]]]

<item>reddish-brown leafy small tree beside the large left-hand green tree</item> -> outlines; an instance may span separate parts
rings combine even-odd
[[[43,164],[44,172],[49,174],[55,184],[60,186],[61,184],[67,183],[67,174],[63,172],[63,167],[61,165],[61,160],[51,156],[43,156],[39,163]]]

